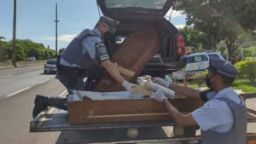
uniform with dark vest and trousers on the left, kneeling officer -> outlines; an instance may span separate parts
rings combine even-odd
[[[96,65],[108,60],[107,49],[99,30],[84,30],[73,39],[61,55],[61,71],[56,78],[68,89],[90,90],[103,68]],[[87,82],[84,83],[84,78]]]

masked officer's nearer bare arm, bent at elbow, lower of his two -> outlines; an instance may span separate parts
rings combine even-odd
[[[164,103],[166,105],[168,112],[170,112],[173,120],[175,121],[175,123],[177,125],[179,125],[179,126],[197,125],[191,112],[189,112],[187,114],[183,114],[183,113],[177,111],[177,109],[175,107],[173,107],[172,104],[167,99],[164,100]]]

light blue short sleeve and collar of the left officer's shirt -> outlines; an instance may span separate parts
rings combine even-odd
[[[95,32],[97,35],[102,36],[97,28],[92,31]],[[102,43],[102,38],[97,36],[90,36],[90,37],[84,38],[84,40],[82,41],[82,46],[83,46],[82,53],[84,54],[88,52],[90,55],[90,58],[95,59],[96,43]]]

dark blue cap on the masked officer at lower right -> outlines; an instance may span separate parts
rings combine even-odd
[[[210,58],[210,66],[208,69],[231,78],[235,78],[238,74],[235,66],[233,66],[229,61],[219,59],[218,57]]]

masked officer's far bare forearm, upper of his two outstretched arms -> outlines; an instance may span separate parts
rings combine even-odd
[[[180,85],[172,83],[169,85],[169,89],[172,89],[176,93],[178,93],[180,95],[184,95],[188,98],[200,99],[200,91],[193,89],[193,88],[184,87],[184,86],[180,86]]]

